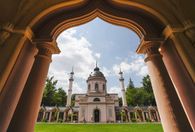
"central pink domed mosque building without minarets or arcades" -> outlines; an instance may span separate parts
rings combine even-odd
[[[108,94],[106,82],[104,74],[96,67],[87,79],[87,93],[76,94],[75,107],[79,107],[79,122],[116,122],[118,94]]]

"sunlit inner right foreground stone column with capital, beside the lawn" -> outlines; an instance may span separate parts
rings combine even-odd
[[[159,53],[160,41],[142,41],[137,52],[145,53],[158,110],[165,132],[191,131],[174,86]]]

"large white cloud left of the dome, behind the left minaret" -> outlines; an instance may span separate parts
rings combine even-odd
[[[54,76],[56,80],[59,80],[57,86],[65,90],[68,88],[68,73],[71,72],[72,66],[74,66],[75,79],[85,82],[95,66],[96,58],[101,56],[100,53],[94,53],[91,50],[91,43],[85,37],[76,37],[76,34],[75,29],[69,29],[60,34],[57,43],[62,52],[59,55],[53,55],[54,61],[49,69],[49,76]],[[74,82],[73,92],[86,92],[79,84]]]

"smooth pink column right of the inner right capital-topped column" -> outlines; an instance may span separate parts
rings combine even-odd
[[[161,47],[161,53],[184,111],[195,131],[195,85],[170,41]]]

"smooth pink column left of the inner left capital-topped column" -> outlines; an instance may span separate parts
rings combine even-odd
[[[6,131],[21,96],[25,82],[37,52],[35,45],[26,42],[19,54],[17,62],[1,91],[0,96],[0,130]]]

